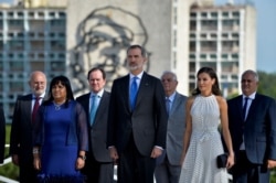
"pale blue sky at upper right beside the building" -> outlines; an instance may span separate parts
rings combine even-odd
[[[251,2],[257,11],[257,71],[276,73],[276,0],[214,0],[215,4]],[[0,0],[13,2],[13,0]]]

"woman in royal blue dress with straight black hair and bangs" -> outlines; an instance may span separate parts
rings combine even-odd
[[[83,107],[74,100],[67,77],[51,80],[49,99],[39,108],[33,137],[39,182],[83,182],[79,170],[88,146],[87,121]]]

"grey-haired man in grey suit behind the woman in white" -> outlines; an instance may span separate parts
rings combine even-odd
[[[166,94],[166,107],[169,116],[167,125],[166,149],[157,158],[155,177],[157,183],[178,183],[181,172],[180,158],[183,149],[185,127],[187,96],[177,92],[178,78],[170,71],[161,76]]]

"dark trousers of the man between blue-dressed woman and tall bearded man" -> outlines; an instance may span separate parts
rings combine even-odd
[[[86,176],[85,183],[114,183],[113,162],[98,162],[92,153],[86,154],[82,173]]]

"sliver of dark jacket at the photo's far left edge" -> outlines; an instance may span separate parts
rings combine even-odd
[[[6,143],[6,118],[3,109],[0,108],[0,163],[3,163],[4,159],[4,143]]]

